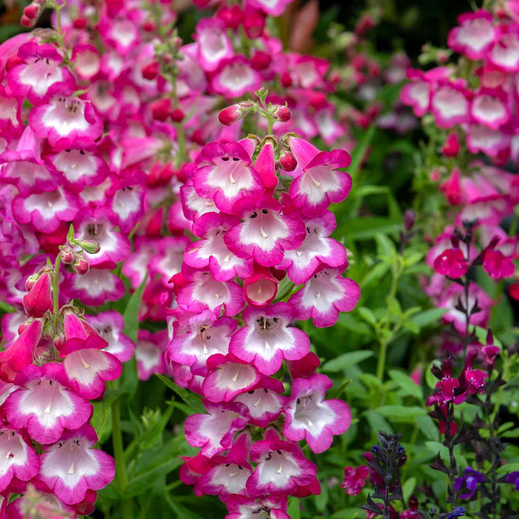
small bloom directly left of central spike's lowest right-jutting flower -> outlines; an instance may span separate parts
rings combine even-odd
[[[233,402],[243,403],[248,408],[251,417],[248,423],[266,428],[277,419],[284,409],[287,397],[282,381],[265,376],[247,392],[240,393]]]

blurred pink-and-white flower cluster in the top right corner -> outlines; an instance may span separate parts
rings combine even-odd
[[[403,88],[402,100],[417,116],[430,111],[440,128],[453,131],[446,140],[450,156],[455,140],[462,140],[470,152],[500,163],[518,159],[513,84],[519,70],[519,20],[513,2],[508,4],[493,12],[480,9],[459,16],[459,26],[448,36],[450,49],[462,55],[457,67],[408,71],[410,83]]]

